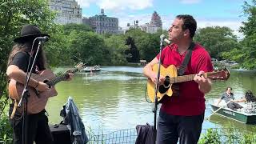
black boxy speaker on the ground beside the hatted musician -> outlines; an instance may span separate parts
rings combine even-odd
[[[54,137],[54,144],[72,144],[67,125],[50,125],[50,132]]]

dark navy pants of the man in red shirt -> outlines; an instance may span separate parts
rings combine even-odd
[[[196,144],[202,130],[204,114],[195,116],[170,115],[159,112],[157,144]]]

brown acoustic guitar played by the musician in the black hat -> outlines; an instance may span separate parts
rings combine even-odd
[[[40,111],[44,110],[48,98],[54,97],[58,94],[54,88],[54,85],[68,78],[68,73],[75,73],[78,70],[81,70],[83,66],[84,65],[82,63],[79,63],[78,66],[74,67],[74,69],[67,70],[66,73],[61,74],[58,77],[56,77],[55,74],[50,70],[42,70],[38,74],[31,74],[31,78],[34,78],[39,82],[45,82],[50,87],[50,90],[40,92],[37,91],[34,87],[27,87],[27,90],[30,93],[27,104],[28,114],[37,114]],[[9,94],[10,97],[13,98],[16,102],[19,102],[20,97],[22,96],[23,88],[24,84],[19,83],[14,79],[10,79],[10,83],[8,86]]]

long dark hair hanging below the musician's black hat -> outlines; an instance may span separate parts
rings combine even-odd
[[[8,62],[7,62],[7,66],[10,65],[10,62],[13,60],[15,54],[17,54],[18,52],[25,52],[25,53],[29,53],[31,51],[32,48],[32,44],[33,44],[34,38],[30,38],[30,40],[28,40],[27,42],[22,42],[22,43],[16,43],[9,55],[8,58]],[[34,42],[34,50],[37,50],[38,48],[38,41]],[[33,53],[35,54],[35,52]],[[34,57],[34,55],[33,55]],[[39,70],[45,70],[46,69],[46,56],[44,51],[42,50],[42,46],[40,47],[40,49],[38,50],[38,57],[36,59],[35,62],[36,66],[38,66]]]

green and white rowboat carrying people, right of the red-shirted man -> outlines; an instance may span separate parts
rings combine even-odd
[[[218,110],[215,114],[219,114],[222,117],[230,118],[238,122],[246,123],[246,124],[256,124],[256,113],[248,113],[248,103],[239,102],[239,105],[243,106],[242,109],[238,109],[237,111],[231,110],[226,106],[226,102],[222,101],[216,106],[217,101],[214,101],[210,104],[211,109],[213,111]]]

